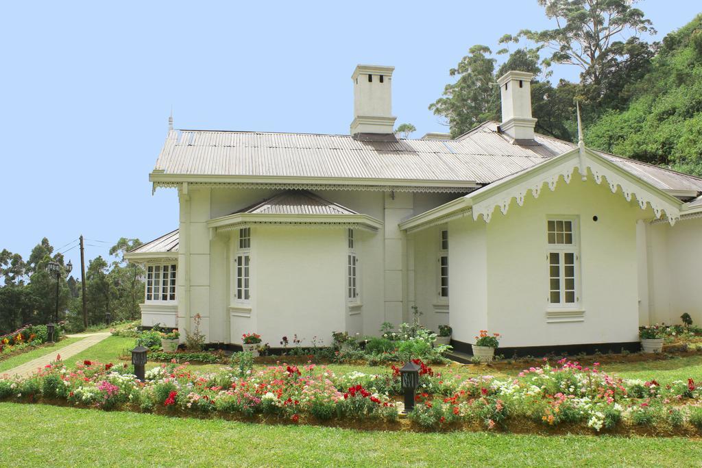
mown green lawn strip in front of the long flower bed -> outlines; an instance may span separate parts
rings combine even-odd
[[[0,403],[0,460],[23,466],[698,466],[702,442],[362,432]],[[31,435],[29,435],[31,434]],[[39,443],[41,441],[41,443]]]

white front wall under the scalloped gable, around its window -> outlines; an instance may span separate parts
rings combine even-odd
[[[487,328],[503,335],[501,346],[637,341],[636,223],[650,210],[592,178],[561,180],[555,192],[543,189],[538,199],[529,194],[524,206],[512,205],[508,215],[496,210],[486,227]],[[546,220],[558,215],[578,216],[581,307],[575,309],[584,311],[583,321],[547,322]]]

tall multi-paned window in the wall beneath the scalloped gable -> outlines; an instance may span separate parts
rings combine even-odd
[[[575,220],[548,220],[548,302],[553,306],[574,307],[580,302],[577,288]]]

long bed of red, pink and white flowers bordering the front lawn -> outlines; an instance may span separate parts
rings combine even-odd
[[[395,366],[377,375],[335,375],[314,364],[254,371],[241,356],[238,366],[204,375],[163,364],[147,371],[145,382],[126,364],[84,361],[68,370],[55,361],[32,377],[0,378],[0,400],[369,429],[702,435],[702,388],[692,379],[626,381],[565,360],[511,379],[465,379],[417,361],[416,406],[399,420]]]

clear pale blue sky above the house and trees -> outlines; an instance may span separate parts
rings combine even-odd
[[[639,6],[655,39],[699,11]],[[176,128],[347,133],[355,65],[394,65],[397,122],[446,131],[427,106],[468,48],[550,25],[536,0],[15,1],[3,16],[0,250],[24,258],[43,236],[70,248],[82,233],[94,258],[177,227],[175,189],[148,182],[171,107]]]

